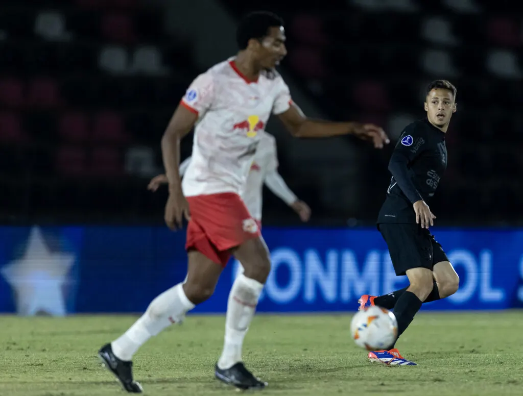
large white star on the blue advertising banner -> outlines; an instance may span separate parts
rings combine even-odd
[[[74,260],[72,253],[49,250],[40,228],[33,227],[24,255],[1,270],[15,291],[18,315],[66,315],[62,287]]]

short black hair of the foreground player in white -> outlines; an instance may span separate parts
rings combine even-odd
[[[245,50],[251,39],[261,40],[269,33],[269,28],[283,26],[283,19],[269,11],[254,11],[245,15],[236,29],[236,43]]]

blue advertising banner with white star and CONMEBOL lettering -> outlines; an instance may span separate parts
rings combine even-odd
[[[263,312],[355,311],[361,294],[407,285],[376,229],[264,228],[272,271]],[[523,230],[439,229],[460,276],[434,310],[523,306]],[[19,315],[142,312],[183,281],[183,231],[165,227],[0,227],[0,312]],[[240,269],[231,260],[214,296],[194,312],[224,312]]]

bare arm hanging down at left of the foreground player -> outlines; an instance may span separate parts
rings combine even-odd
[[[181,190],[180,141],[195,125],[198,115],[183,105],[178,105],[162,137],[162,158],[169,183],[169,199],[165,205],[165,223],[170,229],[182,227],[182,220],[189,219],[189,204]]]

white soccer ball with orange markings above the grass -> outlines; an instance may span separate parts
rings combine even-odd
[[[361,348],[379,351],[394,343],[397,321],[388,309],[372,306],[358,311],[350,322],[350,334]]]

